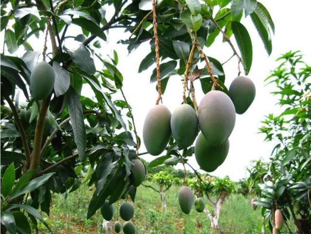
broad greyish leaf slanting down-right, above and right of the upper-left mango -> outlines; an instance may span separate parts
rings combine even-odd
[[[94,74],[96,72],[94,60],[84,45],[74,51],[69,51],[72,61],[84,72]]]

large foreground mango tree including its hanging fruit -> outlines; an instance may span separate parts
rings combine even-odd
[[[88,185],[96,186],[87,218],[103,207],[109,213],[124,194],[134,200],[146,173],[138,156],[146,153],[138,152],[140,138],[118,70],[122,58],[102,48],[108,30],[127,32],[119,34],[119,42],[129,52],[150,45],[138,72],[154,67],[150,81],[156,82],[156,105],[147,114],[142,138],[149,154],[165,153],[153,163],[185,164],[194,153],[203,170],[216,170],[228,153],[236,113],[244,113],[255,98],[252,80],[241,76],[242,70],[250,72],[253,58],[243,15],[252,19],[271,54],[274,23],[257,0],[2,0],[1,232],[31,233],[30,223],[35,228],[37,220],[44,223],[37,210],[49,215],[52,193],[79,188],[77,174],[87,166]],[[232,51],[226,61],[205,53],[217,36]],[[38,45],[42,49],[35,51]],[[225,74],[223,65],[233,57],[237,71]],[[162,94],[174,75],[183,78],[183,105],[172,115],[158,104],[165,102]],[[238,75],[229,89],[228,75]],[[195,85],[206,94],[200,106]],[[91,92],[84,95],[85,89]],[[201,133],[193,147],[198,124]],[[186,203],[188,212],[193,196],[189,188],[183,191],[180,204]],[[133,215],[126,215],[134,208],[122,207],[130,210],[123,230],[135,233]]]

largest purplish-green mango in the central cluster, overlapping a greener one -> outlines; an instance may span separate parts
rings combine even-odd
[[[235,125],[235,108],[227,94],[219,90],[207,92],[199,105],[199,126],[214,146],[223,144]]]

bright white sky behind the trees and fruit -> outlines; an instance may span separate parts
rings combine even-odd
[[[270,92],[273,86],[264,87],[264,79],[269,72],[276,68],[275,59],[279,54],[284,54],[289,50],[301,50],[305,54],[305,61],[311,64],[311,47],[310,47],[310,27],[311,22],[311,1],[310,0],[261,0],[260,2],[268,9],[275,23],[275,35],[272,36],[273,51],[270,57],[267,56],[262,41],[250,19],[242,18],[242,23],[247,28],[253,44],[253,63],[249,77],[256,86],[256,98],[252,106],[243,114],[237,115],[235,128],[229,138],[230,149],[225,162],[213,173],[215,176],[229,176],[232,180],[238,180],[245,177],[246,167],[251,160],[258,160],[260,157],[267,159],[274,144],[264,143],[264,135],[258,134],[258,128],[261,126],[260,121],[264,115],[271,112],[279,112],[276,106],[276,97]],[[107,12],[109,14],[109,12]],[[70,30],[70,28],[73,28]],[[69,27],[68,35],[73,32],[74,26]],[[128,34],[123,33],[122,29],[112,29],[109,31],[109,42],[103,44],[101,54],[113,54],[116,50],[119,55],[118,69],[124,77],[123,91],[133,108],[133,114],[138,130],[138,135],[142,139],[142,126],[145,116],[150,108],[154,106],[157,92],[155,83],[150,84],[150,75],[155,68],[152,66],[148,70],[138,73],[140,61],[150,52],[149,41],[142,44],[132,54],[127,53],[125,45],[117,44],[119,39],[128,38]],[[42,37],[41,37],[42,38]],[[231,37],[233,43],[234,36]],[[3,43],[3,31],[0,35],[1,48]],[[42,50],[43,42],[33,37],[30,40],[34,50]],[[67,48],[74,49],[78,43],[73,43],[69,39],[65,43]],[[237,47],[236,47],[237,48]],[[227,43],[222,42],[222,37],[218,36],[212,47],[204,49],[206,54],[215,57],[220,62],[224,62],[233,53]],[[19,49],[17,54],[23,54],[24,51]],[[6,53],[7,54],[7,53]],[[237,59],[232,58],[224,65],[225,85],[229,87],[231,81],[237,75]],[[194,82],[196,98],[198,103],[203,97],[200,82]],[[86,86],[84,86],[86,87]],[[93,95],[89,89],[84,89],[84,95]],[[163,95],[163,104],[171,112],[182,102],[182,82],[179,76],[173,76]],[[144,145],[141,145],[140,152],[145,152]],[[155,156],[145,155],[143,159],[151,161]],[[194,156],[190,157],[190,164],[198,169]],[[177,165],[177,168],[181,168]],[[187,168],[190,169],[190,168]]]

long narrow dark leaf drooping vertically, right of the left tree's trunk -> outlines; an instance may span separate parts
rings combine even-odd
[[[86,127],[84,124],[80,96],[71,87],[66,92],[66,102],[70,116],[70,123],[73,130],[74,142],[77,145],[79,159],[82,161],[84,159],[86,150]]]

